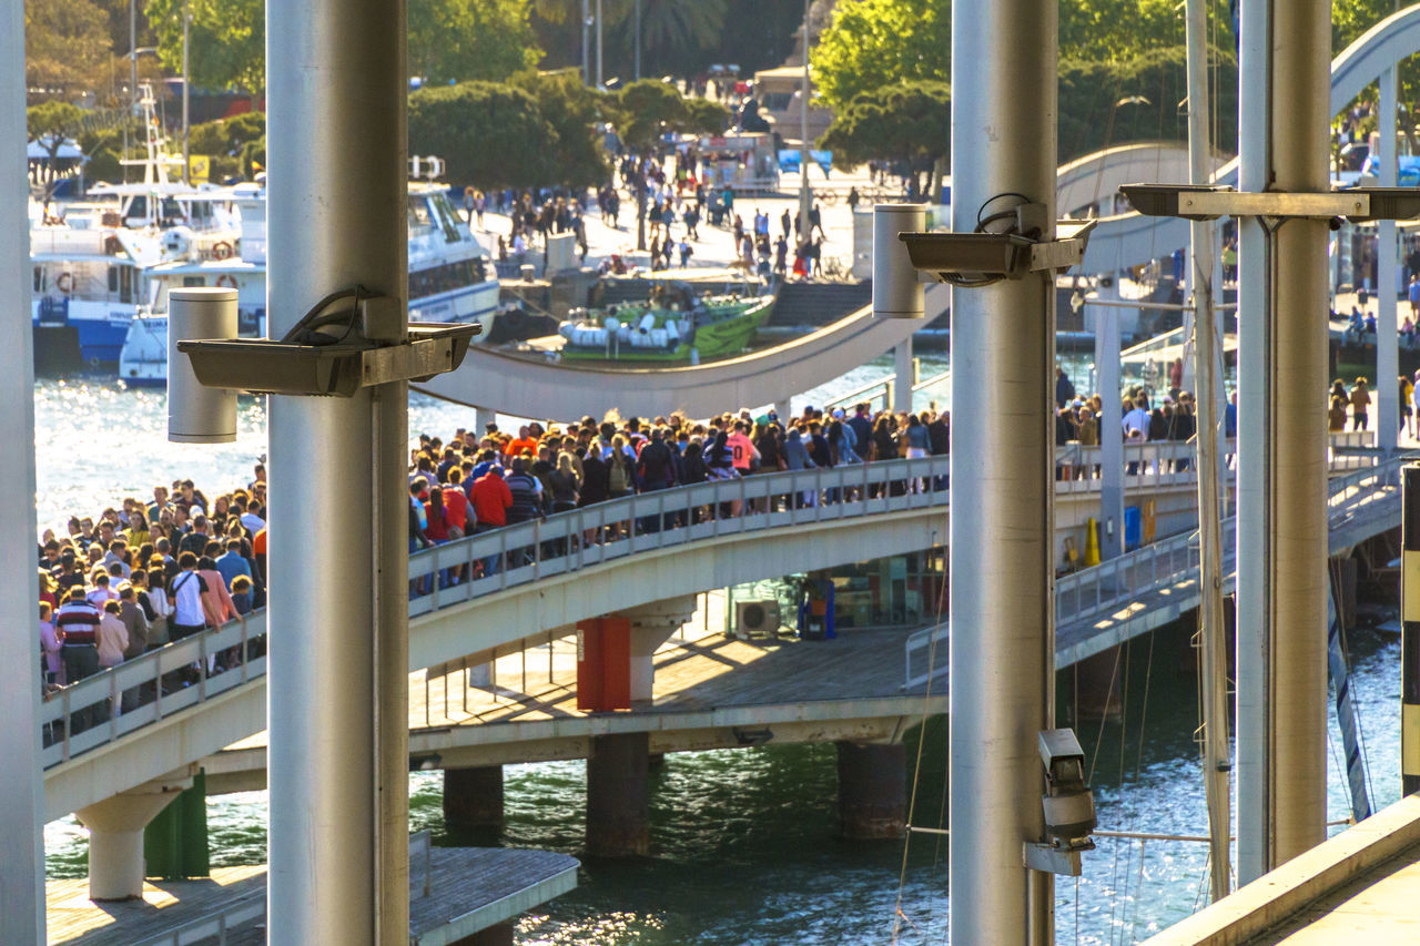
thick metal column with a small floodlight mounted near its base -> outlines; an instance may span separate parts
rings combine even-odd
[[[1056,4],[951,6],[951,224],[1010,192],[1055,213]],[[1003,210],[1020,202],[991,203]],[[1045,239],[1054,237],[1048,226]],[[1054,284],[951,293],[951,942],[1054,942],[1038,733],[1054,707]]]

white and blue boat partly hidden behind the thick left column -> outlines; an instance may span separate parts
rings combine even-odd
[[[423,162],[430,159],[425,158]],[[189,254],[148,271],[151,301],[133,320],[118,357],[118,376],[129,386],[168,384],[168,291],[195,286],[237,290],[237,331],[266,335],[266,185],[230,189],[240,217],[233,253]],[[488,253],[460,219],[447,187],[409,185],[409,320],[479,322],[483,337],[498,314],[500,284]]]

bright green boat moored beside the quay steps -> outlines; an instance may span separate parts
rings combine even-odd
[[[574,308],[558,327],[567,361],[700,364],[744,351],[772,295],[699,295],[689,283],[652,288],[645,303]]]

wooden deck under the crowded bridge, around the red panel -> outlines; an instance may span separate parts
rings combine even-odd
[[[831,641],[740,641],[693,621],[655,655],[653,699],[630,710],[577,709],[577,641],[500,658],[491,679],[449,668],[409,680],[409,747],[432,767],[584,759],[591,739],[650,733],[652,751],[792,741],[895,741],[947,712],[946,682],[906,689],[906,629],[845,629]],[[946,646],[939,648],[946,660]],[[747,734],[753,730],[753,736]],[[264,784],[266,733],[203,760],[210,793]]]

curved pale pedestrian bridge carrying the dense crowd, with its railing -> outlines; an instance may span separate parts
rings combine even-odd
[[[1139,480],[1133,489],[1157,497],[1164,509],[1191,509],[1193,474],[1179,469],[1189,453],[1186,443],[1129,447],[1126,460],[1136,459],[1142,473],[1126,480]],[[1086,450],[1071,459],[1088,470],[1098,457]],[[1375,534],[1399,521],[1399,499],[1362,504],[1367,497],[1397,496],[1394,470],[1392,462],[1336,482],[1345,486],[1333,490],[1353,497],[1346,511],[1356,523],[1348,526],[1348,535]],[[579,619],[665,598],[941,545],[949,491],[939,487],[947,474],[949,457],[941,456],[703,483],[599,503],[417,553],[410,557],[412,584],[490,558],[508,567],[410,599],[410,669],[466,656],[488,659],[524,641],[542,642],[548,632],[569,632]],[[822,501],[802,506],[790,499],[804,494]],[[1098,480],[1058,482],[1059,534],[1098,514]],[[740,504],[743,514],[724,516],[728,504]],[[682,524],[666,528],[667,518],[676,517]],[[1186,545],[1186,540],[1172,543],[1166,543],[1170,550]],[[1142,581],[1146,570],[1179,572],[1183,562],[1170,557],[1176,554],[1154,553],[1147,565],[1135,558],[1123,567],[1115,560],[1062,580],[1061,626],[1098,624],[1109,608],[1127,602],[1132,582]],[[45,818],[264,730],[266,632],[267,614],[256,612],[47,699],[41,707]],[[1100,631],[1116,638],[1125,632],[1119,622]],[[241,653],[251,656],[240,660]],[[163,675],[193,663],[206,668],[219,655],[230,665],[224,672],[203,673],[195,685],[168,695],[156,686]],[[910,655],[909,649],[909,669]],[[75,712],[145,686],[153,692],[151,702],[72,732]]]

